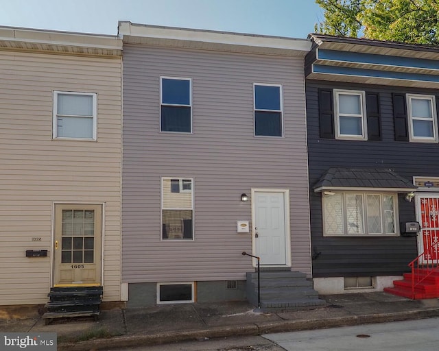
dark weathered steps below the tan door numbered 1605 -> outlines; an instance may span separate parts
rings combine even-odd
[[[47,294],[50,301],[45,304],[45,324],[55,318],[94,317],[99,318],[103,287],[54,287]]]

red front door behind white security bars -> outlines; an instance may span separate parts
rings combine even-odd
[[[416,196],[416,220],[420,223],[418,232],[418,254],[420,262],[438,262],[439,241],[439,195],[420,193]]]

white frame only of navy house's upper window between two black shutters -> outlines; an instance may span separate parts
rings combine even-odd
[[[342,89],[334,89],[334,123],[335,123],[335,138],[336,139],[345,139],[345,140],[368,140],[368,123],[367,123],[367,115],[366,115],[366,92],[363,90],[342,90]],[[353,134],[342,134],[340,132],[340,108],[339,108],[339,95],[355,95],[360,97],[360,108],[361,114],[348,114],[348,117],[359,117],[361,118],[361,127],[363,132],[361,135],[353,135]]]

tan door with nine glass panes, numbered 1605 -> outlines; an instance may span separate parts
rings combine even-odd
[[[102,284],[102,206],[57,204],[54,286]]]

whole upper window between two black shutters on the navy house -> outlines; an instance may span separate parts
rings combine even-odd
[[[334,90],[335,137],[367,139],[364,91]]]

